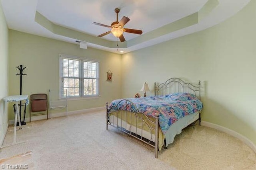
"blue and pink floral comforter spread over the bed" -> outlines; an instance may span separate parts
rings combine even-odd
[[[125,100],[120,102],[121,100],[122,99],[113,100],[108,107],[109,111],[124,105]],[[190,93],[174,93],[166,96],[129,98],[127,100],[133,102],[140,113],[145,113],[152,117],[159,115],[159,125],[164,134],[172,123],[175,123],[178,119],[186,115],[200,111],[203,108],[202,102]],[[131,107],[122,107],[122,109],[131,111]],[[135,108],[133,109],[135,110]]]

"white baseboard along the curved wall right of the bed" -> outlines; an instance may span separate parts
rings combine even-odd
[[[256,153],[256,145],[247,137],[241,135],[240,133],[237,133],[236,131],[233,131],[231,129],[228,129],[226,127],[214,124],[214,123],[210,123],[207,121],[202,121],[202,126],[206,126],[206,127],[211,127],[213,129],[217,129],[219,131],[228,133],[229,135],[236,137],[238,139],[240,139],[242,142],[244,142],[246,145],[248,145],[248,147],[250,147],[255,153]]]

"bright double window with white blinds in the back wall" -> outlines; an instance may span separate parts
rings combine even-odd
[[[60,56],[60,97],[98,96],[98,65],[76,57]],[[67,94],[65,94],[67,92]]]

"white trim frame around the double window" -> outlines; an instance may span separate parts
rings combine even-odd
[[[88,95],[88,96],[70,96],[67,97],[67,100],[85,100],[85,99],[94,99],[94,98],[99,98],[100,97],[100,88],[99,88],[99,82],[100,82],[100,62],[97,60],[92,60],[92,59],[87,59],[87,58],[83,58],[83,57],[77,57],[77,56],[73,56],[73,55],[65,55],[65,54],[60,54],[59,55],[59,98],[63,99],[63,97],[61,96],[61,90],[62,90],[62,57],[66,57],[66,58],[70,58],[70,59],[78,59],[78,60],[82,60],[82,61],[91,61],[91,62],[97,62],[98,63],[98,72],[97,72],[97,76],[98,76],[98,81],[97,81],[97,95]]]

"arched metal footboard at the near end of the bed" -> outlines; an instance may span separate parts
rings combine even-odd
[[[156,115],[152,121],[148,115],[140,113],[138,108],[127,99],[120,100],[111,108],[108,108],[108,103],[106,103],[106,129],[110,125],[154,147],[155,158],[158,158],[158,116]],[[143,129],[148,129],[149,136],[145,137]]]

